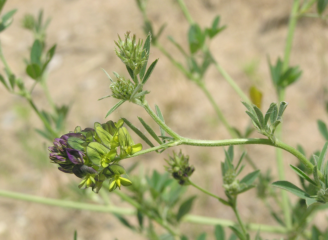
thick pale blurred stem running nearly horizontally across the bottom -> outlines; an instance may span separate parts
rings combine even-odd
[[[96,211],[96,212],[109,212],[109,213],[117,213],[122,215],[136,214],[136,211],[130,208],[120,208],[120,207],[109,206],[109,205],[104,206],[104,205],[98,205],[92,203],[80,203],[80,202],[74,202],[68,200],[40,197],[30,194],[7,191],[7,190],[0,190],[0,196],[22,200],[22,201],[46,204],[50,206],[62,207],[62,208],[72,208],[72,209],[89,210],[89,211]],[[133,205],[135,205],[134,202]],[[187,214],[186,216],[184,216],[182,221],[189,222],[189,223],[196,223],[196,224],[206,224],[206,225],[220,224],[222,226],[227,226],[227,227],[235,225],[235,223],[230,220],[191,215],[191,214]],[[246,226],[246,228],[254,231],[261,229],[262,231],[266,231],[266,232],[275,232],[275,233],[287,232],[286,229],[281,226],[270,226],[270,225],[263,225],[263,224],[256,224],[256,223],[249,223]]]

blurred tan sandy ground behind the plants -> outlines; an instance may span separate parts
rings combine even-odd
[[[277,101],[272,86],[267,55],[273,61],[283,56],[287,33],[287,17],[291,10],[291,0],[186,0],[186,5],[196,22],[202,27],[211,24],[216,14],[221,15],[221,23],[227,25],[211,43],[215,59],[232,76],[237,84],[248,92],[255,84],[263,92],[263,110],[271,102]],[[37,14],[43,9],[45,16],[51,17],[48,29],[48,46],[57,43],[57,51],[51,62],[48,85],[51,95],[58,104],[71,104],[67,130],[79,125],[92,127],[93,122],[103,121],[106,112],[117,101],[98,98],[110,94],[109,80],[100,70],[116,71],[127,76],[125,66],[114,54],[117,33],[123,35],[131,30],[144,37],[142,16],[132,0],[11,0],[4,12],[17,8],[14,22],[8,30],[0,34],[4,54],[12,70],[27,85],[31,79],[24,72],[23,58],[28,57],[32,44],[31,34],[21,28],[25,13]],[[160,42],[177,58],[178,51],[166,39],[174,36],[176,41],[186,46],[187,21],[175,1],[149,1],[149,18],[156,30],[167,23]],[[291,54],[291,65],[299,65],[303,70],[300,81],[286,91],[289,102],[284,114],[283,139],[291,146],[301,144],[308,154],[324,144],[317,130],[317,119],[327,120],[325,101],[327,100],[327,62],[328,28],[318,19],[303,19],[297,25]],[[151,79],[147,82],[147,100],[151,106],[156,103],[161,108],[168,126],[182,136],[198,139],[226,139],[228,132],[219,123],[215,112],[204,94],[186,80],[159,50],[151,49],[150,60],[159,57],[159,62]],[[248,78],[245,66],[258,63],[255,78]],[[243,130],[249,118],[240,103],[240,97],[225,82],[222,76],[211,67],[206,74],[206,85],[215,101],[224,112],[229,123]],[[40,88],[33,97],[39,108],[47,108]],[[69,193],[72,182],[75,188],[78,179],[59,172],[49,163],[47,147],[49,142],[39,137],[34,129],[41,126],[40,121],[30,110],[24,110],[27,103],[20,97],[9,94],[0,87],[0,181],[1,188],[44,197],[90,201],[90,196]],[[133,104],[123,104],[111,115],[117,121],[126,117],[136,126],[142,127],[136,115],[150,121],[146,112]],[[155,125],[152,125],[155,126]],[[254,133],[252,137],[259,137]],[[176,147],[190,156],[196,171],[193,179],[200,185],[224,196],[220,179],[220,162],[224,159],[222,148]],[[28,150],[31,149],[31,150]],[[272,168],[276,176],[274,149],[268,146],[249,146],[246,148],[257,166],[264,171]],[[129,159],[126,166],[140,161],[149,170],[163,172],[162,155],[148,154]],[[297,159],[284,152],[286,175],[297,183],[297,177],[288,164],[296,164]],[[250,170],[247,169],[246,170]],[[246,172],[246,171],[245,171]],[[277,178],[276,178],[277,179]],[[197,193],[191,190],[190,194]],[[189,193],[188,193],[189,194]],[[187,196],[187,195],[186,195]],[[233,212],[218,204],[214,199],[198,194],[193,213],[211,217],[235,219]],[[97,199],[92,195],[94,201]],[[112,195],[110,195],[112,198]],[[292,198],[294,199],[294,198]],[[120,206],[118,200],[113,201]],[[274,223],[262,202],[255,198],[255,190],[240,197],[239,208],[245,221]],[[327,226],[327,212],[321,214],[315,223],[324,229]],[[203,226],[183,224],[184,232],[191,237],[202,231]],[[107,239],[145,239],[122,227],[109,214],[81,210],[68,210],[35,203],[0,198],[0,239],[4,240],[59,240],[73,239],[74,230],[79,240]],[[213,239],[213,227],[204,227]]]

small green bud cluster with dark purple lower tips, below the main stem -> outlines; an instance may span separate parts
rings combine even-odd
[[[173,157],[169,156],[169,160],[165,161],[170,165],[165,166],[166,170],[172,173],[172,176],[179,181],[180,185],[187,185],[188,178],[194,172],[194,166],[189,165],[189,156],[182,154],[181,150],[178,154],[173,152]]]

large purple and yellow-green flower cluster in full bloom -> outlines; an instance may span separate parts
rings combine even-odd
[[[83,178],[80,189],[92,187],[96,193],[106,179],[111,180],[109,190],[130,186],[129,179],[121,177],[125,169],[117,162],[142,149],[141,143],[134,141],[120,119],[117,123],[108,121],[94,123],[94,129],[76,127],[74,132],[56,138],[49,147],[52,163],[59,165],[59,170],[73,173]],[[120,153],[117,154],[117,149]]]

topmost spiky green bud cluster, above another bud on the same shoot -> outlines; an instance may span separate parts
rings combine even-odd
[[[114,41],[118,47],[118,49],[115,48],[115,53],[137,75],[146,64],[149,53],[143,49],[142,39],[139,38],[138,42],[136,41],[135,34],[133,34],[131,39],[130,31],[127,31],[124,36],[124,40],[118,35],[118,42]]]

